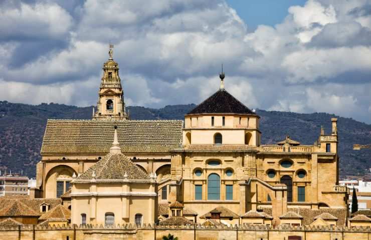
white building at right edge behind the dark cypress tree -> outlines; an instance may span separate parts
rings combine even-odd
[[[357,194],[358,209],[371,209],[371,181],[363,180],[341,180],[340,185],[347,186],[350,189],[349,209],[351,209],[351,198],[353,187]]]

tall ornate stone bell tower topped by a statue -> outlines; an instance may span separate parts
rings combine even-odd
[[[108,61],[103,63],[103,76],[101,79],[97,111],[93,110],[95,120],[124,120],[127,119],[124,102],[124,91],[118,75],[118,64],[113,60],[113,45],[109,44]]]

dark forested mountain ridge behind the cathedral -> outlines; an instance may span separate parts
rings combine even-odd
[[[131,119],[183,119],[195,104],[163,108],[129,106]],[[320,127],[331,130],[331,117],[338,118],[341,177],[369,176],[371,149],[352,150],[352,145],[371,143],[371,124],[328,113],[294,113],[257,109],[261,116],[262,143],[275,143],[286,134],[302,144],[313,144]],[[92,106],[77,107],[56,103],[29,105],[0,101],[0,170],[12,170],[34,177],[48,118],[90,119]]]

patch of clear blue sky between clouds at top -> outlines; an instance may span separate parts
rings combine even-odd
[[[275,25],[287,16],[292,5],[303,6],[306,0],[227,0],[238,15],[248,24],[249,30],[258,25]]]

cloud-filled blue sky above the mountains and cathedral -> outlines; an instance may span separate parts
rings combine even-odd
[[[0,100],[96,104],[108,43],[127,105],[200,103],[371,123],[369,0],[3,0]]]

